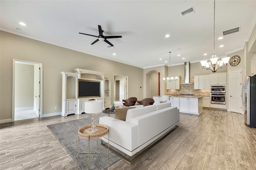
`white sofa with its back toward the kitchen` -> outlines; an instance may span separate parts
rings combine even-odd
[[[109,127],[109,143],[128,156],[133,156],[160,136],[170,131],[180,121],[179,110],[171,103],[159,103],[128,109],[126,121],[100,117],[100,124]],[[102,137],[108,142],[108,134]]]

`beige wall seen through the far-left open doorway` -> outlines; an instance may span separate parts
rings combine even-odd
[[[34,106],[34,65],[15,63],[15,108]]]

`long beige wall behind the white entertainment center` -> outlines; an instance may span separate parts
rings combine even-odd
[[[7,32],[0,32],[0,120],[12,118],[12,59],[43,63],[43,115],[61,112],[61,71],[76,68],[101,71],[129,77],[129,96],[142,98],[143,69],[88,55],[56,45],[39,42]],[[113,81],[111,82],[113,87]],[[111,91],[113,96],[113,90]],[[58,109],[54,109],[57,106]]]

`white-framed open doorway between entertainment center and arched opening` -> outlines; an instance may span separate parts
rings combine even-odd
[[[128,98],[128,76],[114,75],[114,101],[117,105],[122,104],[122,99]]]

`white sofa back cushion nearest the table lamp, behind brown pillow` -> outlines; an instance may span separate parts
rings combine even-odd
[[[140,115],[144,115],[146,113],[150,113],[156,111],[156,106],[155,105],[149,105],[149,106],[145,106],[145,107],[139,107],[139,108],[135,108],[135,109],[129,109],[127,111],[126,114],[126,122],[130,122],[131,118],[140,116]]]

